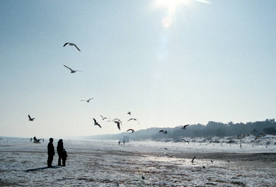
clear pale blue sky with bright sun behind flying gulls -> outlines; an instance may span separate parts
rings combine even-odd
[[[275,7],[238,0],[2,0],[0,136],[62,138],[275,118]],[[67,42],[81,52],[63,47]],[[71,74],[63,65],[82,71]],[[121,131],[100,115],[121,119]]]

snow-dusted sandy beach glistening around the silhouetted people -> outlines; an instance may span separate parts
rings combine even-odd
[[[238,143],[188,138],[190,144],[130,141],[125,145],[116,140],[63,139],[66,166],[56,166],[56,153],[55,167],[47,168],[48,139],[34,144],[27,138],[0,137],[0,186],[274,186],[275,136],[258,143],[252,138],[243,140],[242,149]],[[268,140],[272,142],[267,145]]]

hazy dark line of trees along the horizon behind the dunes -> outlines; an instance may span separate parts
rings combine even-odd
[[[158,132],[159,130],[166,130],[168,133]],[[227,124],[221,122],[209,121],[206,125],[193,124],[189,125],[187,129],[181,129],[181,126],[174,128],[157,128],[152,127],[148,129],[142,129],[135,131],[134,133],[123,132],[119,134],[106,134],[106,135],[95,135],[86,138],[89,139],[122,139],[123,136],[129,136],[131,140],[141,139],[160,139],[160,138],[171,138],[178,139],[181,137],[225,137],[225,136],[237,136],[241,134],[253,134],[253,135],[264,135],[264,134],[276,134],[276,122],[275,119],[266,119],[265,121],[255,121],[247,123],[236,123],[232,121]]]

